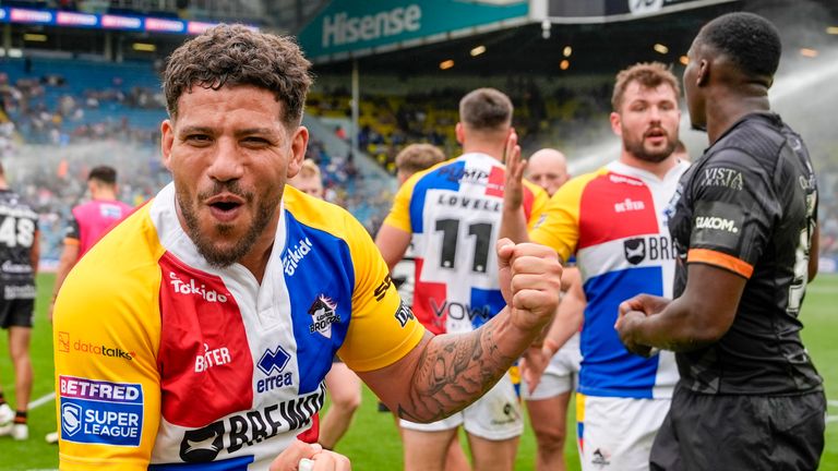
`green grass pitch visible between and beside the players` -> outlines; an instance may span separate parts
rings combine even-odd
[[[44,436],[56,430],[55,400],[52,392],[52,337],[46,312],[55,277],[38,277],[35,328],[32,337],[32,362],[35,369],[33,401],[40,406],[29,412],[29,439],[14,442],[0,437],[0,469],[52,470],[58,468],[58,447],[44,442]],[[801,314],[805,328],[803,341],[824,377],[829,400],[826,449],[821,460],[821,471],[838,471],[838,341],[836,341],[836,304],[838,304],[838,275],[819,275],[810,286]],[[12,365],[8,353],[8,337],[0,334],[0,385],[7,399],[14,403]],[[574,401],[571,401],[573,404]],[[571,414],[571,420],[573,419]],[[578,470],[575,434],[570,428],[566,455],[570,469]],[[462,437],[460,443],[465,444]],[[375,397],[364,388],[363,403],[349,433],[338,444],[337,451],[349,456],[352,469],[360,471],[402,469],[402,446],[388,413],[376,410]],[[516,461],[517,470],[534,469],[536,454],[532,432],[527,427],[520,439]]]

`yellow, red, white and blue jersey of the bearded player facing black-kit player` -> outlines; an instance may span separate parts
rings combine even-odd
[[[534,242],[562,259],[576,254],[588,304],[582,329],[579,392],[587,396],[670,398],[678,381],[674,357],[630,353],[614,329],[618,306],[636,294],[672,297],[675,253],[665,210],[689,167],[660,180],[614,161],[572,179],[553,195]]]

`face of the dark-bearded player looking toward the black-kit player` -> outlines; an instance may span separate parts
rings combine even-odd
[[[678,96],[667,84],[649,88],[638,82],[628,83],[619,112],[611,114],[612,128],[622,137],[623,148],[650,162],[662,161],[672,154],[680,121]]]

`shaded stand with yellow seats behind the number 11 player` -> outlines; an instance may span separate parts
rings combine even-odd
[[[430,143],[446,155],[457,153],[454,135],[457,102],[469,89],[494,85],[510,90],[515,105],[514,124],[525,154],[542,147],[573,149],[595,141],[610,111],[609,76],[549,83],[532,77],[456,77],[440,81],[414,77],[398,86],[396,76],[366,77],[369,83],[359,104],[358,143],[391,174],[394,159],[407,144]],[[496,82],[496,83],[494,83]],[[310,95],[307,111],[323,120],[348,122],[349,92],[339,77],[321,76]],[[394,86],[396,84],[396,86]]]

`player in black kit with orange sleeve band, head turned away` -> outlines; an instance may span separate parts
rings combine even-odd
[[[677,352],[681,381],[650,468],[815,470],[826,400],[798,315],[817,270],[817,188],[802,140],[770,111],[779,35],[727,14],[689,59],[690,118],[710,147],[670,208],[675,300],[633,298],[616,325],[631,351]]]

